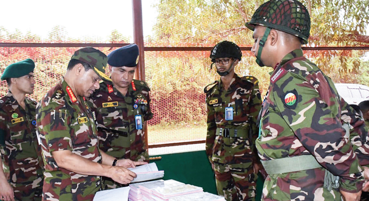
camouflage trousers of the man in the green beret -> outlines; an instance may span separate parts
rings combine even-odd
[[[42,181],[41,178],[39,179]],[[33,185],[34,182],[29,184],[20,184],[20,183],[10,183],[10,184],[13,187],[14,197],[16,201],[41,201],[42,186],[35,186]]]

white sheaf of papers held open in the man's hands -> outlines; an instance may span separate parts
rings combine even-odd
[[[131,183],[142,182],[161,178],[164,176],[164,171],[157,170],[155,163],[137,166],[136,168],[128,168],[130,171],[136,173],[137,177]]]

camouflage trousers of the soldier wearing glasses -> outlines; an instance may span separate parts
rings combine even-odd
[[[244,164],[214,163],[216,191],[227,201],[255,201],[257,174],[252,162]]]

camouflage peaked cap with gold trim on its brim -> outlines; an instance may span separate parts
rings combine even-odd
[[[74,52],[71,59],[77,59],[91,65],[92,70],[105,81],[112,81],[108,75],[105,74],[108,57],[92,47],[81,48]]]

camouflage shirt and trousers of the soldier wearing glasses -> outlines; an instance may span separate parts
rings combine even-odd
[[[208,110],[206,153],[215,165],[217,192],[227,201],[254,200],[257,162],[253,142],[257,138],[256,120],[261,108],[258,80],[234,75],[228,90],[221,80],[205,87]],[[233,120],[225,120],[225,107],[233,108]],[[216,128],[246,130],[247,137],[216,135]],[[251,174],[252,173],[252,174]]]

